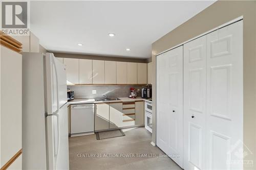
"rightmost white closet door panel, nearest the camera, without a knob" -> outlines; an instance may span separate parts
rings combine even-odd
[[[208,34],[206,41],[206,168],[242,169],[243,22]]]

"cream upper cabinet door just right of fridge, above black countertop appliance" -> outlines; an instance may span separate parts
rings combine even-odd
[[[63,63],[66,66],[67,84],[79,84],[79,59],[64,58]]]

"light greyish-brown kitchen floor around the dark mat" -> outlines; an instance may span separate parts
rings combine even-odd
[[[181,169],[150,143],[152,135],[143,127],[124,133],[102,140],[95,135],[69,138],[70,169]]]

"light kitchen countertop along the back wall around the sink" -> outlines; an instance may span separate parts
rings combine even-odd
[[[74,99],[73,101],[68,102],[69,105],[77,105],[77,104],[90,104],[90,103],[116,103],[116,102],[135,102],[135,101],[145,101],[143,98],[118,98],[118,101],[98,101],[96,102],[94,99]]]

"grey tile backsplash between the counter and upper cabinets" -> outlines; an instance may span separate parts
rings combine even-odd
[[[135,89],[147,88],[147,86],[129,86],[129,85],[76,85],[68,86],[71,91],[74,91],[75,99],[95,99],[104,98],[102,94],[106,94],[108,98],[125,98],[131,94],[130,88]],[[151,88],[151,86],[150,86]],[[96,90],[96,94],[92,93],[92,90]],[[136,90],[137,92],[137,90]],[[141,96],[140,92],[137,92],[137,96]]]

